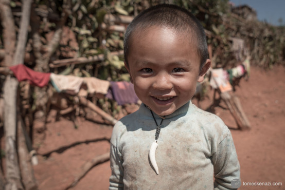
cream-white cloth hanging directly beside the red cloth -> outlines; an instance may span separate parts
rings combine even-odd
[[[72,94],[77,94],[79,92],[80,86],[84,81],[81,77],[55,73],[50,74],[50,80],[57,92],[67,91]]]

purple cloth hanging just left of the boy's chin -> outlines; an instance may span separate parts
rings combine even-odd
[[[106,98],[114,99],[118,102],[118,105],[137,103],[138,98],[136,96],[134,85],[130,82],[110,82],[111,86],[106,94]]]

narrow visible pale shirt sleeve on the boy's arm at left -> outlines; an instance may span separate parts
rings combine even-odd
[[[113,137],[112,137],[113,138]],[[110,165],[112,170],[112,175],[110,177],[109,190],[123,189],[123,166],[122,166],[122,156],[116,145],[112,143],[110,148]]]

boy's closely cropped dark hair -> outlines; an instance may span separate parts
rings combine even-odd
[[[188,10],[170,4],[160,4],[150,7],[140,14],[129,24],[124,34],[124,60],[129,66],[128,55],[132,33],[144,31],[152,26],[166,26],[176,32],[191,34],[192,39],[197,42],[197,50],[200,56],[200,71],[209,58],[206,35],[203,26],[198,19]]]

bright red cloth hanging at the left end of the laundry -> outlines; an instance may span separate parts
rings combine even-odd
[[[48,73],[37,72],[37,71],[34,71],[26,67],[23,64],[11,66],[9,68],[13,71],[15,77],[17,78],[19,82],[28,80],[30,81],[30,84],[33,84],[39,87],[43,87],[48,84],[50,72]]]

